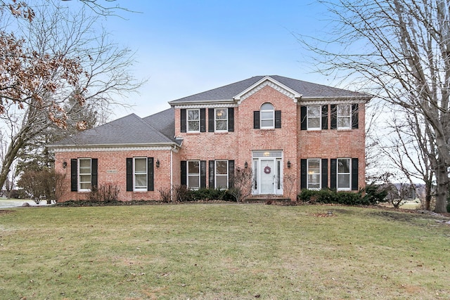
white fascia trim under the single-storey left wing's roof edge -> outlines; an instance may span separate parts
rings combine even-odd
[[[167,145],[68,145],[53,148],[55,152],[98,152],[98,151],[152,151],[152,150],[174,150],[178,146]]]

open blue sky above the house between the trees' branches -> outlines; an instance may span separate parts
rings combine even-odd
[[[147,79],[128,98],[140,117],[169,108],[170,100],[256,75],[278,74],[333,85],[312,72],[295,34],[316,36],[326,27],[326,8],[315,1],[125,1],[131,11],[104,26],[118,43],[136,51],[132,68]]]

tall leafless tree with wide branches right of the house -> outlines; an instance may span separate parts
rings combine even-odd
[[[319,70],[341,74],[387,103],[427,120],[435,143],[435,211],[446,211],[450,166],[449,0],[320,1],[333,14],[332,37],[300,37]],[[338,48],[336,48],[338,47]],[[332,50],[329,50],[332,49]]]

